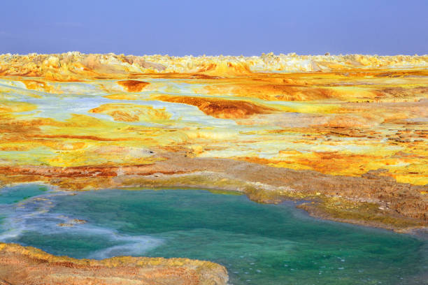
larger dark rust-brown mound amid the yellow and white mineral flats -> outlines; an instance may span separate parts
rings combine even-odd
[[[278,110],[274,108],[241,100],[191,96],[156,96],[155,98],[160,101],[194,105],[206,115],[221,119],[241,119],[256,114],[278,112]]]

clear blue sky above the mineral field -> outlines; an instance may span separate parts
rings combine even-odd
[[[428,53],[428,0],[5,0],[0,7],[0,53]]]

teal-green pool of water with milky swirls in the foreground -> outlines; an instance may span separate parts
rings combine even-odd
[[[425,284],[428,271],[427,241],[313,219],[294,203],[197,190],[106,190],[49,192],[0,207],[2,241],[76,258],[215,261],[227,267],[230,284]]]

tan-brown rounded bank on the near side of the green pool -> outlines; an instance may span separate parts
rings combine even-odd
[[[0,284],[225,285],[228,279],[223,266],[209,261],[129,256],[95,261],[0,243]]]

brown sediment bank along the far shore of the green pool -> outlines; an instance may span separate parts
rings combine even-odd
[[[384,171],[361,177],[324,175],[313,170],[273,168],[231,159],[163,153],[163,161],[121,167],[0,168],[0,182],[45,181],[64,189],[113,187],[202,187],[243,191],[262,203],[289,198],[313,199],[306,210],[327,219],[403,229],[428,226],[427,186],[398,183]],[[13,176],[17,175],[14,181]],[[80,181],[81,180],[81,181]],[[321,199],[322,198],[322,199]],[[342,203],[331,204],[331,199]],[[337,201],[336,201],[337,202]],[[383,210],[380,210],[380,208]],[[322,213],[322,214],[320,214]]]

